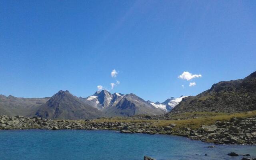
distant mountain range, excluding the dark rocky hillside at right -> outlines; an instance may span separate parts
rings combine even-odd
[[[111,94],[107,90],[95,92],[86,98],[76,97],[68,90],[60,90],[52,97],[17,98],[0,95],[0,114],[40,116],[50,119],[94,119],[110,116],[159,115],[169,112],[180,98],[165,102],[145,101],[135,94]]]

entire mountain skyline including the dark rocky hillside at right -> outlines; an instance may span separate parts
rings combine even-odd
[[[0,115],[40,116],[50,119],[91,119],[110,116],[160,115],[181,112],[243,112],[256,110],[256,72],[244,79],[222,81],[196,96],[145,101],[135,94],[107,90],[86,98],[60,90],[52,97],[18,98],[0,95]]]

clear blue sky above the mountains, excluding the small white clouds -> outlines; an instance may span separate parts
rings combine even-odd
[[[256,70],[255,8],[253,0],[2,0],[0,94],[87,97],[99,85],[160,102],[199,94]],[[201,77],[178,78],[184,71]]]

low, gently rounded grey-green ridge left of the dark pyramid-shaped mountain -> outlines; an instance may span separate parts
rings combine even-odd
[[[50,97],[46,98],[18,98],[14,96],[0,95],[0,114],[8,116],[30,116],[36,112],[38,107],[46,103]]]

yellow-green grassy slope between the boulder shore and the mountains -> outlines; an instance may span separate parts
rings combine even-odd
[[[183,119],[191,116],[196,118]],[[118,119],[118,118],[100,118],[95,120],[96,122],[153,122],[153,126],[168,126],[172,123],[176,124],[176,128],[189,127],[191,129],[200,128],[202,124],[211,125],[217,120],[230,120],[232,117],[252,117],[256,116],[256,110],[249,112],[240,112],[235,114],[228,113],[214,113],[214,112],[187,112],[174,115],[175,118],[181,120],[129,120],[129,119]]]

